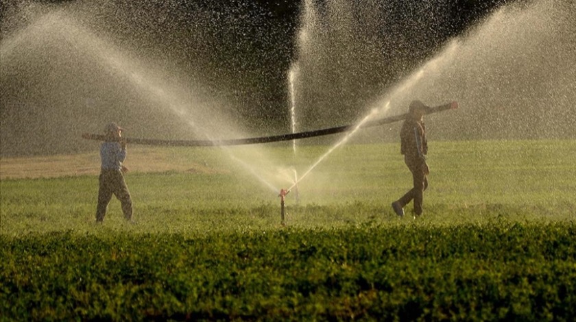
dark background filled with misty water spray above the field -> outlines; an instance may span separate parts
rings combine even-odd
[[[2,6],[3,157],[94,149],[80,134],[110,121],[129,137],[243,138],[401,114],[416,98],[460,103],[430,116],[435,140],[576,137],[569,0]]]

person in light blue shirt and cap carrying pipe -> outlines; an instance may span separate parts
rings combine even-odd
[[[106,208],[115,195],[121,203],[124,218],[132,221],[132,197],[124,180],[128,168],[123,166],[126,158],[126,140],[122,138],[122,128],[116,123],[106,125],[106,140],[100,147],[101,172],[99,176],[96,222],[104,221]]]

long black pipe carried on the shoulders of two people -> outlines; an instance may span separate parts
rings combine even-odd
[[[433,108],[428,108],[425,114],[431,114],[435,112],[442,112],[444,110],[451,110],[457,108],[455,102],[444,104],[441,106],[435,106]],[[396,116],[389,116],[383,119],[377,119],[374,121],[368,121],[361,125],[361,127],[372,127],[376,125],[383,125],[387,123],[394,123],[397,121],[402,121],[407,118],[409,113],[400,114]],[[315,136],[325,136],[329,134],[336,134],[341,132],[348,132],[355,129],[357,125],[344,125],[339,127],[330,127],[328,129],[316,129],[307,132],[298,132],[291,134],[280,134],[276,136],[261,136],[256,138],[235,138],[230,140],[157,140],[149,138],[125,138],[126,143],[136,144],[136,145],[165,145],[170,147],[215,147],[215,146],[226,146],[226,145],[252,145],[257,143],[271,143],[279,141],[288,140],[299,140],[301,138],[313,138]],[[82,138],[88,140],[106,140],[104,134],[82,134]]]

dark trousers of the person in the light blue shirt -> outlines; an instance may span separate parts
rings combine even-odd
[[[99,177],[98,204],[96,207],[96,221],[104,221],[106,208],[115,195],[122,205],[122,212],[126,220],[132,219],[132,198],[124,176],[119,170],[102,170]]]

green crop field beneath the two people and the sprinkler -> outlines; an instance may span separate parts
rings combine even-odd
[[[416,221],[389,206],[411,184],[399,146],[345,145],[287,195],[286,225],[286,169],[304,173],[328,147],[264,149],[129,154],[147,164],[126,176],[134,223],[115,199],[95,223],[96,174],[4,172],[0,319],[576,314],[576,141],[431,142]],[[248,153],[250,170],[228,153]]]

